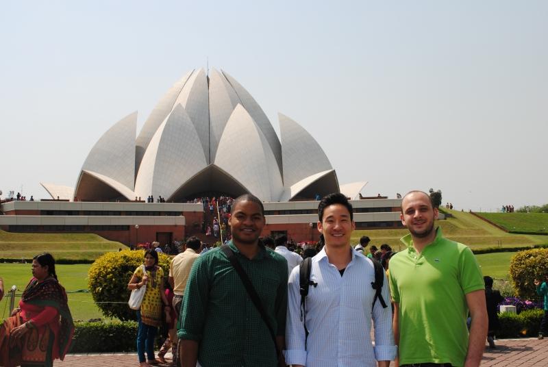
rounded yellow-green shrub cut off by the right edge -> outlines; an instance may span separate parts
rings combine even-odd
[[[510,277],[522,299],[538,299],[534,279],[548,275],[548,249],[519,251],[510,260]]]

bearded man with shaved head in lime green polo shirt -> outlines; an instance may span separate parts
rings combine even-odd
[[[437,216],[425,192],[401,201],[401,223],[410,233],[401,238],[407,249],[390,260],[399,366],[477,367],[487,336],[482,272],[469,247],[434,229]]]

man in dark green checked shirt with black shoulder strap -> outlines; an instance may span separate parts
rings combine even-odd
[[[264,207],[251,194],[234,200],[228,221],[230,249],[249,277],[277,341],[220,248],[192,265],[182,305],[179,357],[183,367],[285,366],[287,262],[259,242]]]

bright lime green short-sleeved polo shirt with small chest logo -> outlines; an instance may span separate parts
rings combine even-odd
[[[436,239],[419,254],[408,248],[390,259],[390,292],[399,303],[399,363],[464,366],[468,350],[465,294],[484,289],[482,271],[468,246]]]

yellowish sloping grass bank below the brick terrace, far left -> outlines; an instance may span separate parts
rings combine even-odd
[[[107,251],[125,249],[120,242],[91,233],[12,233],[0,230],[0,257],[32,259],[48,251],[55,259],[95,260]]]

